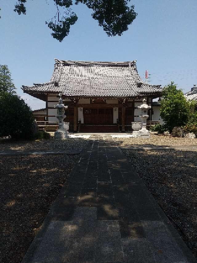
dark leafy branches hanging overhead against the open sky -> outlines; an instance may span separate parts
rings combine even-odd
[[[29,0],[16,0],[14,11],[20,14],[26,14],[26,2]],[[40,0],[41,1],[41,0]],[[46,0],[42,0],[46,1]],[[72,0],[48,0],[54,1],[57,8],[57,13],[53,18],[46,21],[46,25],[53,31],[53,38],[62,42],[69,34],[70,26],[76,23],[78,17],[71,9]],[[107,33],[108,36],[122,35],[128,30],[130,25],[136,18],[137,13],[134,10],[134,5],[129,5],[130,0],[76,0],[78,3],[85,4],[92,9],[92,18],[98,21],[100,27]],[[63,11],[61,12],[61,8]],[[62,13],[62,14],[61,14]]]

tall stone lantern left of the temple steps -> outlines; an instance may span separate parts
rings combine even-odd
[[[59,103],[57,105],[54,105],[54,108],[57,109],[57,115],[56,118],[58,119],[58,125],[59,128],[55,132],[55,138],[56,139],[66,139],[69,138],[68,136],[68,129],[69,129],[69,122],[63,122],[63,119],[65,116],[65,109],[68,109],[68,106],[64,106],[63,100],[62,100],[62,94],[59,94]]]

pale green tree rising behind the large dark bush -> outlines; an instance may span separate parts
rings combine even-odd
[[[0,92],[4,91],[15,94],[15,89],[8,66],[0,65]]]

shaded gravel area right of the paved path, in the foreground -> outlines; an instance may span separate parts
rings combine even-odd
[[[197,151],[123,152],[197,257]]]

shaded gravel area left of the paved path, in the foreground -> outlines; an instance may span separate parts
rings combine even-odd
[[[78,158],[0,156],[0,262],[21,262]]]

